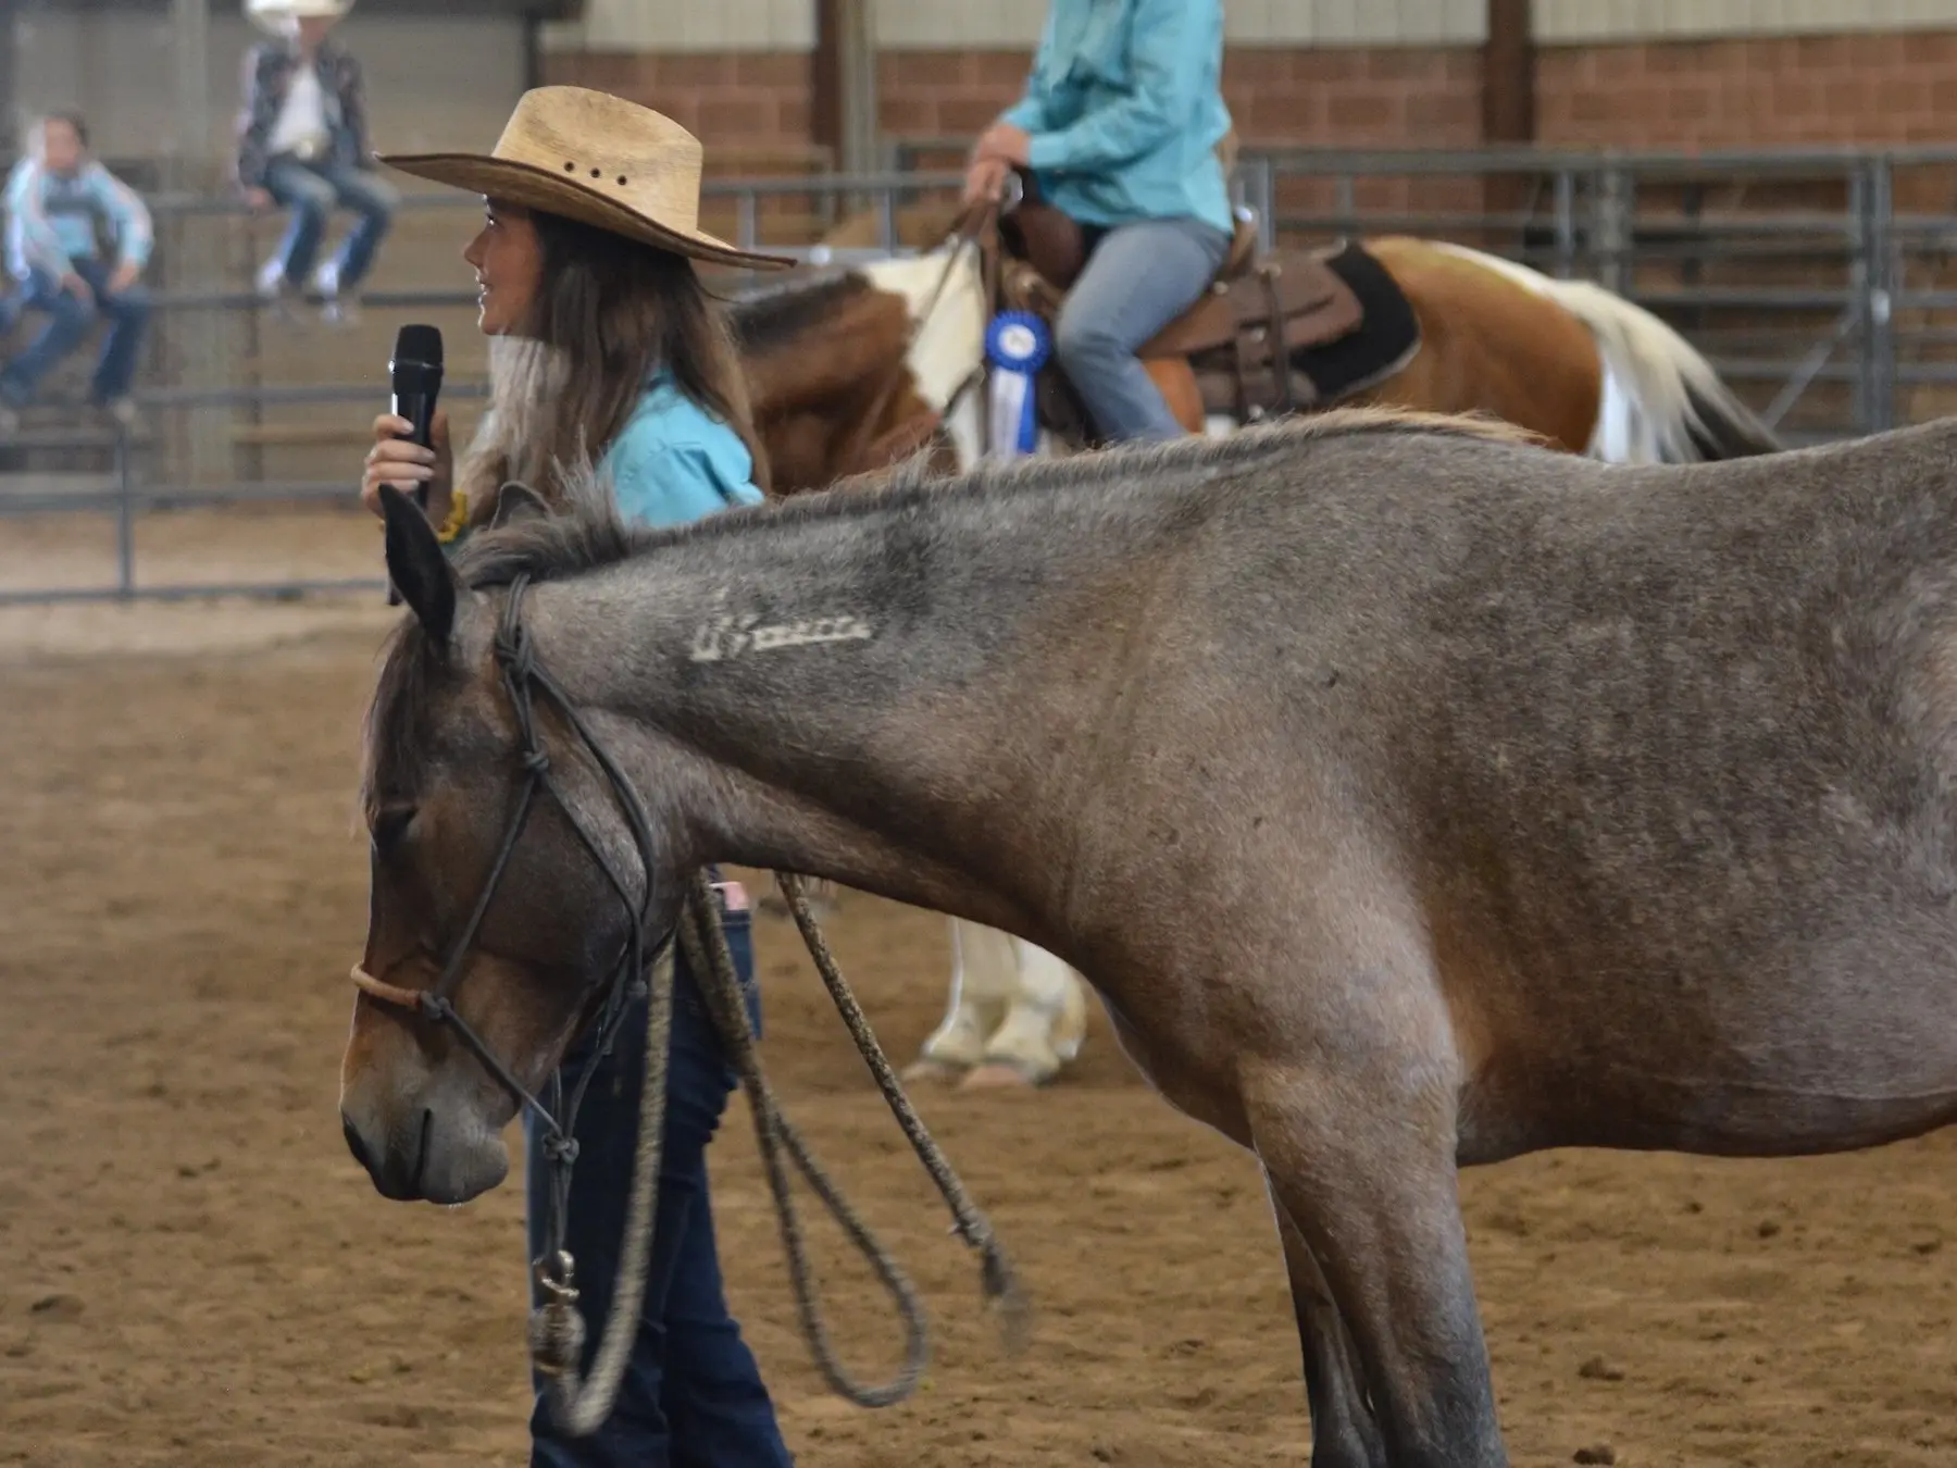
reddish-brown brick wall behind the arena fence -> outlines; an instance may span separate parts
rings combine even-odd
[[[885,51],[883,129],[898,139],[971,137],[1020,94],[1027,61],[1018,49]],[[806,53],[560,53],[548,67],[554,80],[601,86],[679,117],[706,141],[712,172],[781,172],[785,159],[810,151]],[[1223,90],[1249,147],[1481,141],[1478,47],[1231,47]],[[1957,31],[1546,45],[1536,127],[1552,147],[1957,143]],[[1284,190],[1286,211],[1333,204],[1329,186],[1290,180]],[[1483,202],[1479,190],[1470,180],[1364,180],[1358,202],[1472,211]],[[1898,198],[1947,207],[1957,176],[1906,174]]]

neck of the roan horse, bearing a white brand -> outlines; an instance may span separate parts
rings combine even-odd
[[[867,499],[530,593],[544,664],[675,859],[1010,926],[1057,912],[1078,734],[1115,697],[1143,519],[1115,485]]]

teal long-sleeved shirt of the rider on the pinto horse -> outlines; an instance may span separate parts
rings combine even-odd
[[[1235,227],[1215,155],[1231,129],[1223,0],[1053,0],[1004,121],[1031,135],[1045,200],[1082,223]]]

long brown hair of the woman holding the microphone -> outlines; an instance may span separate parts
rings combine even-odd
[[[748,378],[720,305],[673,251],[530,211],[542,278],[523,331],[489,343],[489,411],[456,472],[470,521],[507,480],[556,501],[562,478],[595,462],[660,368],[748,444],[767,493]]]

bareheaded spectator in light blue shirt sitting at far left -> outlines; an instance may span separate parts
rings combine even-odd
[[[115,241],[102,256],[98,235]],[[20,356],[0,368],[0,431],[20,429],[20,409],[41,378],[72,352],[100,315],[108,321],[90,399],[125,427],[135,421],[129,384],[149,325],[139,284],[155,235],[133,188],[88,153],[88,125],[72,112],[41,117],[27,157],[6,184],[6,264],[22,284],[20,305],[49,321]]]

